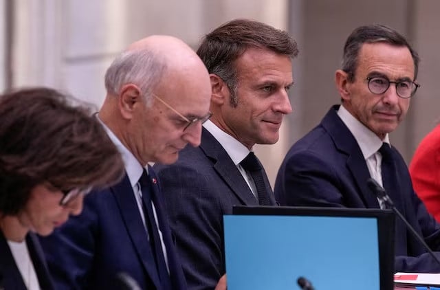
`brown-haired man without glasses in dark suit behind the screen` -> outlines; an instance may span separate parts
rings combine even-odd
[[[197,51],[210,72],[212,118],[198,148],[184,148],[173,166],[155,165],[189,289],[212,289],[225,274],[223,214],[276,204],[252,147],[278,141],[292,111],[297,53],[287,32],[241,19],[212,31]]]

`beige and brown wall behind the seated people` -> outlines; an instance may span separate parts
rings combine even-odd
[[[4,1],[8,0],[0,0],[0,15],[5,13]],[[333,74],[345,38],[358,25],[384,23],[408,36],[422,59],[421,89],[407,120],[391,136],[409,161],[440,117],[435,87],[439,10],[436,0],[14,0],[12,85],[49,85],[99,107],[105,69],[115,54],[138,38],[170,34],[197,47],[203,34],[238,17],[289,30],[300,47],[294,60],[294,113],[286,118],[278,144],[256,147],[274,181],[289,146],[339,102]],[[0,18],[0,65],[7,47],[4,27]],[[4,80],[0,71],[0,90]]]

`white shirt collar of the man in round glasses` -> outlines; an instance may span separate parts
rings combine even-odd
[[[375,154],[383,142],[390,143],[388,134],[385,135],[384,140],[380,140],[373,131],[368,129],[358,119],[354,118],[353,115],[344,108],[343,104],[339,107],[338,116],[355,137],[362,151],[362,155],[364,155],[364,159],[368,159],[371,155]]]

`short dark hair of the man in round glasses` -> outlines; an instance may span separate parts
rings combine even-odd
[[[360,26],[351,32],[344,45],[342,56],[342,70],[347,72],[349,82],[355,80],[355,71],[358,68],[358,56],[364,43],[389,43],[395,46],[408,47],[414,61],[414,80],[419,72],[419,55],[411,47],[406,38],[396,30],[386,25],[372,24]]]

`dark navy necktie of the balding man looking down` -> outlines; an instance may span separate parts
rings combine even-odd
[[[155,258],[157,273],[159,274],[161,289],[170,289],[170,276],[166,269],[164,252],[162,250],[162,243],[157,230],[157,223],[154,218],[153,206],[151,205],[151,194],[154,191],[151,188],[151,181],[146,174],[146,170],[142,173],[139,179],[140,188],[142,191],[142,203],[144,207],[145,223],[148,229],[149,242]]]

